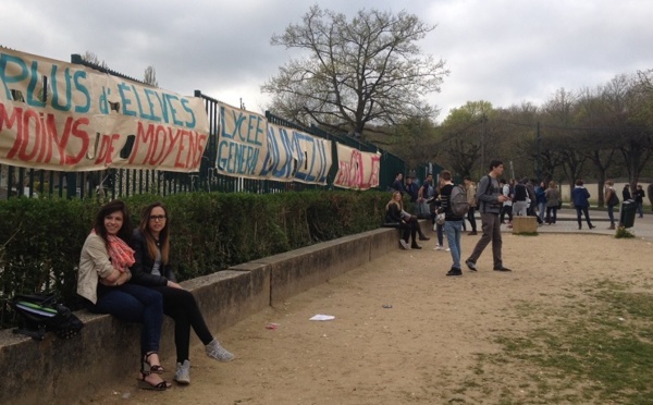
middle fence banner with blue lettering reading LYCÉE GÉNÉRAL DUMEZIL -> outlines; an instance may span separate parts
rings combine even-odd
[[[230,176],[326,184],[331,142],[269,123],[263,115],[220,103],[218,172]]]

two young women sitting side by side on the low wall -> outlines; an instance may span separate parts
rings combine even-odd
[[[77,281],[77,294],[91,312],[143,323],[138,384],[157,391],[171,386],[160,376],[164,372],[159,358],[163,315],[174,320],[177,383],[190,382],[190,328],[205,344],[207,356],[220,361],[234,358],[209,331],[193,294],[176,281],[169,220],[165,207],[155,202],[132,229],[125,204],[108,202],[82,248]]]

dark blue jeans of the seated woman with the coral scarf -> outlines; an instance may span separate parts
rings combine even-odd
[[[159,352],[161,323],[163,323],[163,297],[161,293],[136,284],[119,287],[98,285],[98,302],[88,310],[96,314],[111,314],[127,322],[143,323],[140,331],[140,354]]]

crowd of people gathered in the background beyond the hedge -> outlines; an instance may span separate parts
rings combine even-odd
[[[538,222],[555,225],[557,222],[557,210],[562,207],[562,195],[557,184],[554,181],[549,183],[529,180],[527,177],[509,183],[502,177],[504,165],[501,160],[493,160],[490,163],[490,171],[484,175],[478,186],[472,182],[471,177],[464,179],[465,188],[467,192],[467,201],[469,210],[467,214],[456,214],[452,210],[452,191],[454,183],[452,182],[452,173],[444,170],[440,173],[440,184],[435,187],[433,176],[429,174],[421,187],[412,186],[412,182],[407,182],[405,188],[410,195],[411,201],[418,207],[422,204],[431,202],[433,209],[434,230],[438,232],[439,244],[435,247],[442,246],[443,234],[446,235],[448,249],[452,255],[453,263],[446,275],[461,275],[461,249],[460,235],[465,229],[465,219],[470,222],[472,228],[470,235],[477,234],[477,223],[475,212],[478,210],[481,217],[482,236],[475,246],[471,255],[465,260],[465,265],[470,271],[477,271],[477,261],[485,247],[492,243],[493,269],[495,271],[512,271],[503,265],[502,259],[502,235],[501,225],[505,223],[505,216],[508,216],[508,226],[513,221],[514,216],[533,216],[538,218]],[[401,177],[397,176],[401,181]],[[393,186],[394,188],[394,186]],[[637,204],[637,210],[640,218],[643,217],[643,198],[644,192],[641,185],[637,186],[637,191],[631,195],[629,185],[624,187],[623,197],[625,200],[633,199]],[[584,187],[582,180],[578,180],[571,191],[571,204],[576,208],[578,229],[582,229],[582,216],[588,224],[588,228],[594,229],[590,220],[589,202],[590,193]],[[619,204],[618,197],[614,189],[614,183],[607,181],[605,183],[605,200],[607,212],[611,220],[611,229],[615,229],[614,223],[614,207]],[[405,247],[408,242],[408,233],[412,234],[412,243],[418,233],[419,224],[417,217],[410,217],[403,210],[402,193],[395,191],[392,200],[386,206],[386,221],[401,221],[401,228],[404,229],[404,236],[401,241]],[[420,247],[421,248],[421,247]]]

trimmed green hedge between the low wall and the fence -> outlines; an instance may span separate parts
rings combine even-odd
[[[123,200],[137,226],[143,208],[165,204],[180,280],[379,228],[389,193],[309,191],[281,194],[188,193]],[[0,201],[0,299],[54,292],[77,308],[82,245],[97,200],[11,198]],[[3,305],[2,323],[11,323]]]

